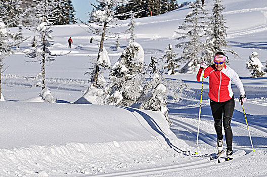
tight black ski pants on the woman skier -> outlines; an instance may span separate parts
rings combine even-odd
[[[227,150],[232,150],[233,131],[231,128],[231,119],[235,109],[234,97],[221,103],[210,100],[210,108],[214,119],[217,139],[222,140],[224,138],[222,135],[222,125],[224,125]]]

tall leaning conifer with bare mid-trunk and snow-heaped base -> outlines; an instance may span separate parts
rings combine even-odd
[[[94,8],[91,13],[89,13],[89,23],[85,23],[81,21],[81,23],[85,24],[88,29],[87,32],[91,32],[96,35],[101,36],[97,61],[94,64],[94,68],[92,72],[87,72],[91,74],[91,84],[86,90],[85,94],[79,100],[87,100],[86,97],[90,96],[94,98],[94,100],[87,100],[93,104],[103,104],[103,94],[104,88],[106,86],[106,80],[102,75],[102,71],[108,69],[110,67],[110,61],[107,55],[107,51],[104,47],[104,40],[109,33],[109,28],[115,28],[116,24],[114,24],[120,14],[117,14],[115,9],[122,3],[127,3],[128,0],[97,0],[99,3],[98,6],[91,4]],[[96,25],[92,25],[96,24]],[[107,38],[107,37],[106,37]],[[91,38],[93,40],[93,38]]]

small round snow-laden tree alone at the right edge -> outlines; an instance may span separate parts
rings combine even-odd
[[[263,69],[264,66],[258,59],[258,53],[252,52],[248,57],[248,62],[246,63],[247,69],[251,72],[252,78],[262,77],[266,74]]]

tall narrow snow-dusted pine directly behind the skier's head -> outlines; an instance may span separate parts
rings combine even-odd
[[[209,28],[207,29],[207,38],[203,52],[203,58],[208,65],[213,64],[213,57],[219,51],[237,56],[236,52],[227,49],[226,31],[228,27],[226,26],[226,19],[222,14],[224,10],[225,7],[221,5],[221,0],[214,0],[212,14],[209,17]],[[228,62],[228,60],[226,62]]]

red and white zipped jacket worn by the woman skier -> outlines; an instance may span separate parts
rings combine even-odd
[[[204,73],[204,78],[209,76],[209,93],[208,96],[211,100],[215,102],[225,102],[230,100],[234,93],[232,91],[232,82],[238,87],[240,95],[244,95],[243,84],[237,75],[237,73],[226,66],[221,70],[217,70],[215,65],[208,66],[205,70],[200,68],[197,73],[197,80],[202,81]]]

